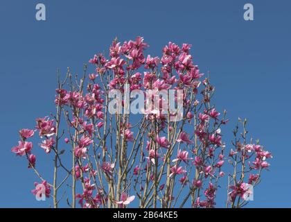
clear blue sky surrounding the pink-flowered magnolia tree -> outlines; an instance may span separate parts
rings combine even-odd
[[[35,19],[37,3],[46,5],[46,22]],[[243,19],[245,3],[254,4],[253,22]],[[30,194],[37,178],[10,148],[20,128],[53,110],[55,70],[80,73],[114,37],[137,35],[152,56],[169,41],[193,45],[195,64],[210,71],[215,103],[231,120],[224,140],[238,117],[247,117],[250,134],[273,153],[249,207],[291,207],[290,10],[283,0],[0,1],[0,207],[48,206]],[[224,198],[218,194],[217,202]]]

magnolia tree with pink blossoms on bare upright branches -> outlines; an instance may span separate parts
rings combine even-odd
[[[93,74],[87,65],[80,79],[68,69],[58,78],[55,114],[19,131],[12,152],[39,178],[32,191],[37,200],[51,197],[54,207],[60,201],[69,207],[215,207],[222,180],[227,207],[252,198],[271,153],[247,140],[247,121],[240,119],[232,147],[225,146],[226,112],[211,104],[215,88],[194,65],[190,44],[169,42],[161,58],[146,56],[146,48],[142,37],[114,40],[107,58],[89,60]],[[48,171],[39,172],[33,136],[48,160],[53,157],[52,181],[43,176]]]

